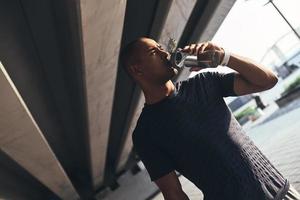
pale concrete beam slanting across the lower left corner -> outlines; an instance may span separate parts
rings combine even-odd
[[[1,150],[60,198],[79,199],[1,63],[0,69]]]

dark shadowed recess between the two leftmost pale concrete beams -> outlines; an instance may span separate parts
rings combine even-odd
[[[77,61],[81,54],[73,53],[81,44],[74,38],[79,29],[72,26],[80,19],[77,9],[72,9],[78,2],[0,2],[0,24],[4,27],[0,29],[1,62],[56,158],[82,194],[91,181],[86,131],[81,128],[85,126],[85,104],[80,100],[84,98],[83,88],[79,86],[83,73]]]

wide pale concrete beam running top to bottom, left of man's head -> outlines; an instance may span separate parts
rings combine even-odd
[[[90,160],[101,185],[107,153],[125,0],[81,0]]]

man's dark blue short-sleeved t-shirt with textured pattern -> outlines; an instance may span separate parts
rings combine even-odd
[[[234,72],[203,72],[175,83],[173,95],[145,104],[134,149],[152,181],[178,171],[205,200],[282,199],[288,181],[254,145],[223,97],[236,96]]]

